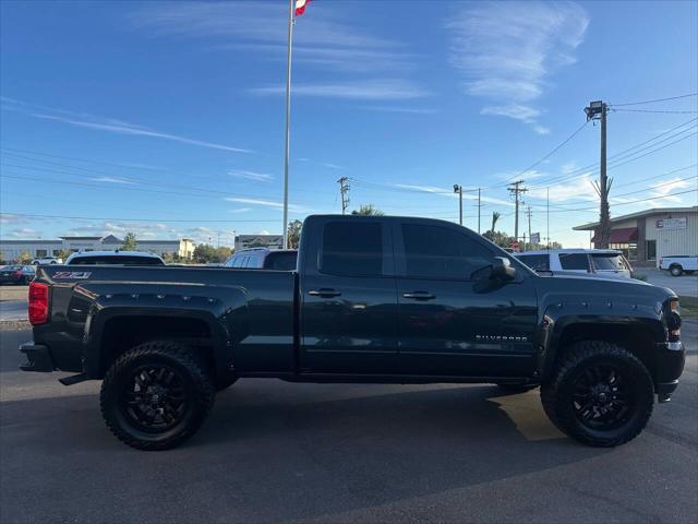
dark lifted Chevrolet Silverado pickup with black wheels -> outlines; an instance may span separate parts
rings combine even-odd
[[[108,428],[142,450],[194,434],[239,378],[540,386],[569,437],[638,436],[684,368],[676,295],[544,276],[452,223],[305,219],[297,271],[40,266],[25,371],[101,380]],[[464,406],[467,409],[467,406]]]

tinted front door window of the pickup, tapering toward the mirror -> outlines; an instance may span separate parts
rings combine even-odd
[[[407,276],[469,279],[492,263],[489,249],[447,227],[404,224],[402,238]]]

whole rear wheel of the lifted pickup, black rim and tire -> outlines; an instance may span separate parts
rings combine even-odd
[[[139,450],[174,448],[198,430],[215,388],[204,362],[174,342],[148,342],[121,355],[101,384],[107,427]]]

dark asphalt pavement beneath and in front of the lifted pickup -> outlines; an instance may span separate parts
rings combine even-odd
[[[538,391],[246,379],[183,446],[132,450],[96,382],[24,373],[0,332],[0,520],[24,522],[695,522],[698,323],[687,369],[647,430],[587,448]]]

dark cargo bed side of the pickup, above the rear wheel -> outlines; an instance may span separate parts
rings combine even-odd
[[[51,297],[49,322],[35,326],[35,343],[51,348],[57,369],[83,371],[85,357],[85,370],[98,377],[106,348],[97,341],[127,345],[127,332],[147,336],[163,322],[172,336],[208,338],[230,371],[294,369],[294,272],[51,265],[39,267],[37,282],[50,286]]]

